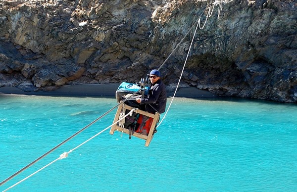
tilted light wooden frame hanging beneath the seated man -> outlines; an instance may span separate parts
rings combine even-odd
[[[113,123],[115,123],[116,121],[119,120],[119,117],[120,117],[120,113],[123,109],[128,109],[128,110],[132,110],[133,107],[127,105],[127,104],[120,104],[118,106],[118,109],[117,109],[117,112],[115,114],[115,117],[114,117],[114,120],[113,120]],[[134,136],[134,137],[137,137],[137,138],[140,138],[140,139],[143,139],[143,140],[146,140],[146,146],[149,145],[150,141],[152,140],[152,137],[153,137],[153,130],[156,126],[156,124],[158,123],[159,121],[159,118],[160,118],[160,114],[159,113],[155,113],[155,114],[152,114],[152,113],[149,113],[147,111],[143,111],[143,110],[140,110],[138,108],[135,108],[135,112],[136,113],[139,113],[139,114],[142,114],[142,115],[145,115],[145,116],[148,116],[148,117],[151,117],[153,118],[153,121],[151,123],[151,126],[150,126],[150,129],[149,129],[149,132],[148,132],[148,135],[143,135],[143,134],[140,134],[140,133],[136,133],[136,132],[133,132],[131,135]],[[129,130],[126,129],[126,128],[123,128],[123,127],[120,127],[118,125],[113,125],[110,129],[110,134],[113,135],[114,131],[119,131],[119,132],[123,132],[125,134],[129,134]]]

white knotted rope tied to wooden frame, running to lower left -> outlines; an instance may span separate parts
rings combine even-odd
[[[63,152],[62,154],[60,154],[60,156],[51,161],[49,164],[47,164],[46,166],[42,167],[41,169],[35,171],[34,173],[32,173],[31,175],[27,176],[26,178],[22,179],[21,181],[17,182],[16,184],[10,186],[9,188],[7,188],[6,190],[4,190],[3,192],[6,192],[8,190],[10,190],[11,188],[17,186],[18,184],[22,183],[23,181],[29,179],[30,177],[32,177],[33,175],[37,174],[38,172],[42,171],[43,169],[47,168],[49,165],[53,164],[54,162],[58,161],[58,160],[61,160],[61,159],[64,159],[66,157],[68,157],[68,154],[70,154],[72,151],[74,151],[75,149],[79,148],[80,146],[82,146],[83,144],[86,144],[88,143],[89,141],[93,140],[95,137],[99,136],[101,133],[103,133],[104,131],[108,130],[111,126],[117,124],[118,122],[120,122],[121,120],[125,119],[127,116],[132,116],[133,112],[135,112],[136,109],[133,108],[129,113],[127,113],[125,116],[123,116],[121,119],[119,119],[118,121],[114,122],[113,124],[109,125],[108,127],[106,127],[105,129],[103,129],[102,131],[100,131],[98,134],[94,135],[93,137],[91,137],[90,139],[86,140],[85,142],[77,145],[76,147],[74,147],[73,149],[69,150],[68,152]]]

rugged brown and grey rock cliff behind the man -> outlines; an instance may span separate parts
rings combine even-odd
[[[137,82],[162,66],[170,90],[199,21],[182,87],[297,102],[297,1],[213,2],[0,1],[0,86]]]

